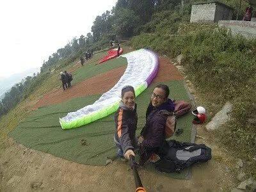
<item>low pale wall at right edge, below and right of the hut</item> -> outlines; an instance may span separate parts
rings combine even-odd
[[[220,20],[219,26],[229,28],[232,34],[241,34],[246,38],[256,38],[256,22],[243,20]]]

